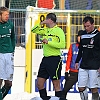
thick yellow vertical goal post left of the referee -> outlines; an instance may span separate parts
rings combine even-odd
[[[25,91],[32,92],[32,18],[29,18],[30,32],[27,35],[26,42],[26,67],[25,67]]]

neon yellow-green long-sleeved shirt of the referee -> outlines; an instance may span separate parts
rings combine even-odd
[[[61,55],[60,49],[65,48],[65,34],[60,27],[56,25],[53,28],[41,28],[41,25],[38,24],[32,28],[32,32],[43,36],[42,39],[48,40],[48,44],[43,43],[45,57]]]

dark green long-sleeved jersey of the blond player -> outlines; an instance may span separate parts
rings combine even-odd
[[[14,25],[10,21],[0,23],[0,53],[12,53],[14,49]]]

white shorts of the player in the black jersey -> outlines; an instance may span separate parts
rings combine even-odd
[[[79,68],[78,87],[99,88],[100,76],[98,70],[86,70]]]

